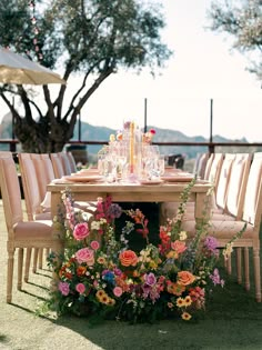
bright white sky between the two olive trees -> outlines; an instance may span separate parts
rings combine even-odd
[[[211,1],[160,2],[162,40],[174,52],[167,68],[155,78],[148,71],[109,77],[82,109],[82,120],[121,129],[133,119],[143,127],[147,99],[148,124],[209,138],[213,99],[213,134],[261,142],[261,82],[245,70],[244,57],[230,52],[225,36],[204,29]]]

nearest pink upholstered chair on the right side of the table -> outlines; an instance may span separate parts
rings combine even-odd
[[[240,199],[241,201],[242,199]],[[260,276],[260,227],[262,216],[262,152],[255,152],[250,167],[246,189],[244,191],[241,218],[232,217],[222,220],[211,220],[209,233],[218,239],[219,247],[224,248],[228,242],[246,224],[243,234],[233,242],[233,248],[244,249],[244,286],[250,289],[249,250],[253,251],[254,286],[256,301],[261,301],[261,276]],[[195,234],[193,221],[183,223],[183,229],[192,237]],[[239,264],[241,261],[239,261]],[[239,266],[240,269],[240,266]]]

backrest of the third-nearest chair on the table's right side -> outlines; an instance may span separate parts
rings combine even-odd
[[[225,209],[225,200],[228,194],[228,184],[231,176],[232,163],[235,154],[225,153],[222,162],[218,186],[215,189],[215,203],[219,208]]]

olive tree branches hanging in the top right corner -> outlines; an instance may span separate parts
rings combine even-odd
[[[210,29],[228,33],[232,48],[245,54],[248,70],[262,78],[262,1],[212,1],[208,11]]]

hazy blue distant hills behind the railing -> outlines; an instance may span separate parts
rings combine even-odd
[[[154,142],[209,142],[209,139],[205,139],[201,136],[188,137],[181,131],[161,129],[154,126],[148,126],[149,129],[155,130]],[[83,141],[107,141],[111,133],[115,133],[115,129],[110,129],[107,127],[94,127],[87,122],[81,122],[81,140]],[[78,124],[75,126],[74,140],[78,140]],[[248,142],[245,138],[241,140],[230,140],[221,136],[213,136],[214,142]],[[89,153],[97,153],[101,149],[101,146],[89,146]],[[167,146],[161,147],[161,152],[164,154],[174,154],[182,153],[187,154],[187,158],[195,158],[196,153],[205,152],[205,147],[173,147]]]

